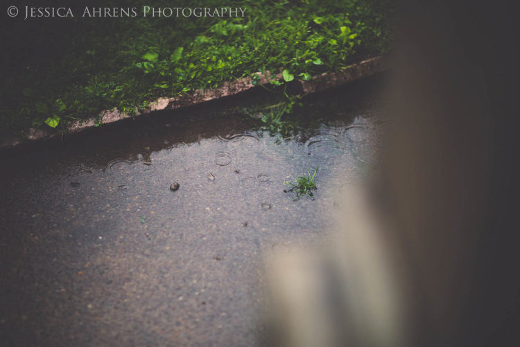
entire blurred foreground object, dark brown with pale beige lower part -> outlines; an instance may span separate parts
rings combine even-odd
[[[519,346],[517,19],[402,5],[378,178],[268,267],[283,346]]]

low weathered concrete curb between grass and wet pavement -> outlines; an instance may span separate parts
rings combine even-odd
[[[343,69],[343,71],[324,73],[318,76],[313,76],[310,81],[296,81],[296,83],[300,83],[305,94],[311,94],[320,92],[322,90],[327,90],[331,87],[336,87],[338,85],[356,81],[361,78],[372,76],[378,72],[385,71],[388,69],[388,67],[388,57],[379,56],[376,58],[363,60],[362,62],[358,62],[354,65],[350,65]],[[258,75],[260,76],[259,83],[264,85],[268,84],[268,77],[270,79],[273,77],[281,78],[281,73],[276,74],[275,76],[271,76],[269,71],[266,71],[265,74],[258,73]],[[214,90],[196,90],[191,94],[183,94],[173,98],[159,98],[156,101],[150,103],[150,106],[148,106],[146,110],[137,112],[137,115],[134,116],[126,115],[124,112],[121,112],[116,108],[114,108],[114,110],[104,110],[100,113],[100,116],[102,117],[101,124],[111,124],[116,121],[121,121],[123,119],[132,117],[139,117],[140,115],[145,115],[150,112],[160,110],[175,110],[177,108],[197,105],[206,101],[220,99],[224,96],[236,95],[241,92],[245,92],[246,90],[250,90],[253,87],[257,87],[257,85],[253,85],[252,78],[247,76],[239,78],[236,81],[225,82],[221,87],[218,87]],[[90,117],[89,119],[75,121],[72,124],[69,124],[67,132],[78,133],[83,130],[95,128],[96,118],[98,117]],[[9,146],[17,146],[18,144],[22,143],[35,142],[40,139],[50,139],[60,134],[61,133],[55,129],[31,128],[28,130],[28,132],[24,133],[24,137],[22,138],[7,136],[0,139],[0,149]]]

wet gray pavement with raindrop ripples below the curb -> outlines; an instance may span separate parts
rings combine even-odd
[[[244,96],[2,151],[2,344],[261,344],[262,258],[327,237],[380,84],[306,99],[284,136]],[[315,167],[315,200],[284,192]]]

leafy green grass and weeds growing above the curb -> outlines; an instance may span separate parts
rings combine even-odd
[[[194,7],[192,1],[152,2],[132,6]],[[220,7],[221,1],[197,6]],[[64,128],[112,108],[132,115],[160,96],[216,88],[258,71],[284,71],[275,83],[307,80],[385,53],[392,41],[392,1],[242,0],[232,6],[247,8],[245,17],[76,16],[33,21],[34,30],[28,21],[5,24],[0,132]]]

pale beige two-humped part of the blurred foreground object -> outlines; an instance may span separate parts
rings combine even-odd
[[[281,346],[403,346],[403,291],[383,226],[354,186],[340,235],[268,258],[271,317]]]

